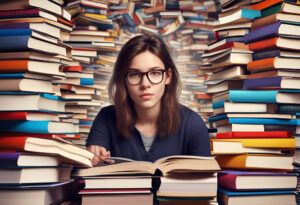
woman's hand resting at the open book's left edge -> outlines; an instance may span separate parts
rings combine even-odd
[[[90,145],[87,150],[94,153],[92,159],[92,165],[95,166],[98,163],[114,163],[114,160],[108,159],[110,157],[110,151],[107,151],[104,147],[98,145]]]

